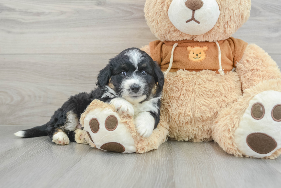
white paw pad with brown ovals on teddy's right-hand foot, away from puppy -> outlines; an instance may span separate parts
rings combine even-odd
[[[246,156],[268,157],[281,148],[281,92],[255,95],[235,130],[235,142]]]

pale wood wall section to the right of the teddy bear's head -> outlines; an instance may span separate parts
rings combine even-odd
[[[269,54],[281,53],[281,1],[251,0],[249,20],[233,35],[255,43]]]

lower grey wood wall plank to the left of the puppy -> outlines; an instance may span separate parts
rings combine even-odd
[[[0,124],[42,125],[71,96],[94,89],[109,55],[0,55]]]

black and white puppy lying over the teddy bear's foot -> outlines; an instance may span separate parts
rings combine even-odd
[[[79,119],[94,99],[112,104],[123,115],[134,116],[136,130],[149,137],[159,123],[164,75],[152,58],[137,48],[122,51],[99,72],[97,89],[71,96],[42,126],[19,131],[19,137],[49,135],[56,144],[75,142]]]

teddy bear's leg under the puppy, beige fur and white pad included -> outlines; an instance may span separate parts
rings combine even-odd
[[[113,105],[99,100],[91,102],[81,115],[80,123],[87,133],[85,140],[92,147],[121,153],[157,149],[168,134],[165,123],[161,121],[150,137],[143,138],[137,133],[132,117],[120,115]]]

